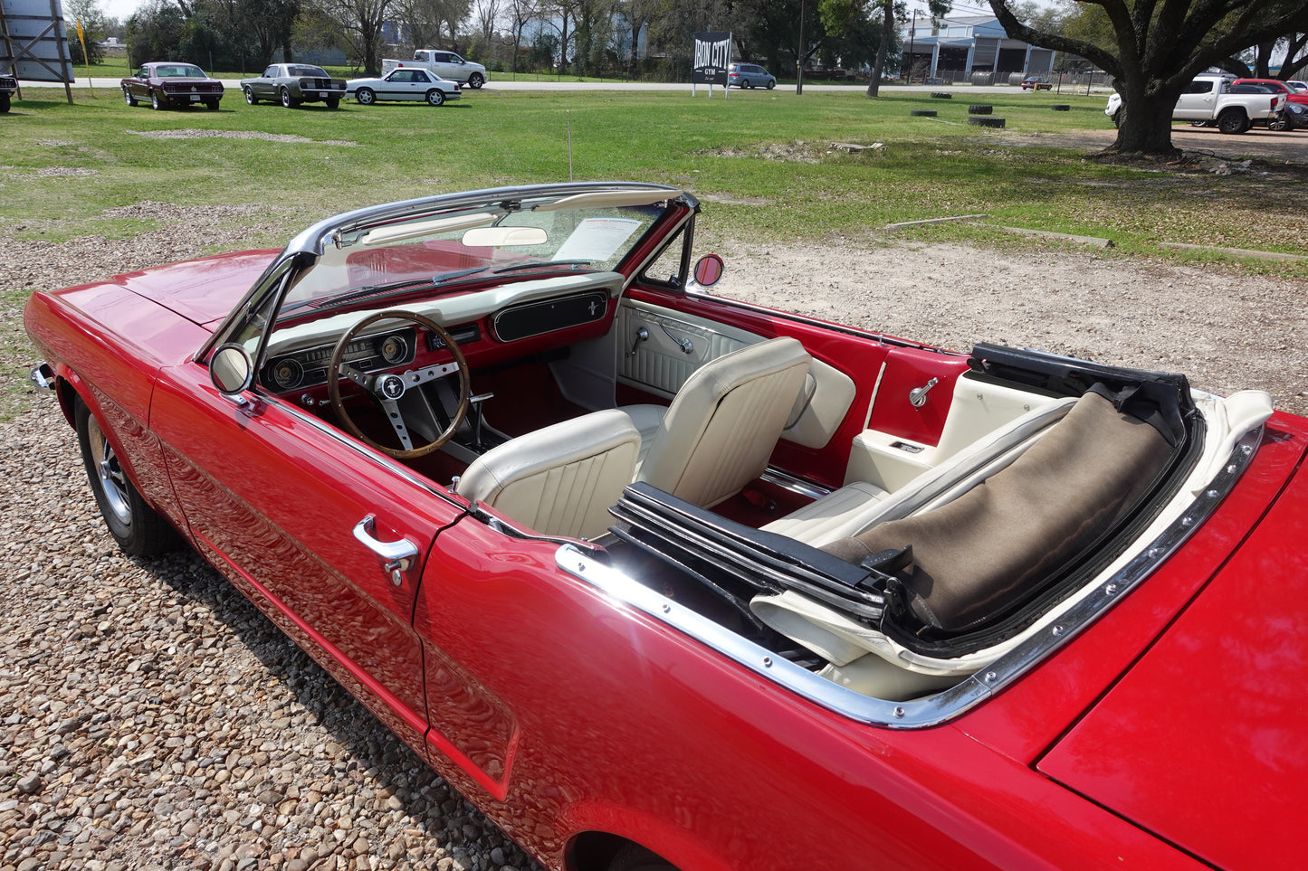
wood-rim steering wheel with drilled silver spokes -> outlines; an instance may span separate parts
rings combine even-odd
[[[398,375],[388,371],[375,374],[362,373],[345,364],[345,349],[349,348],[352,341],[354,341],[354,337],[365,328],[378,323],[379,320],[408,320],[430,331],[437,339],[445,343],[445,348],[454,357],[454,362],[437,366],[422,366],[421,369],[409,369]],[[416,348],[415,358],[417,358]],[[436,439],[428,442],[426,445],[419,445],[415,447],[408,426],[404,425],[404,418],[400,415],[400,398],[405,394],[405,391],[417,387],[419,384],[425,384],[429,381],[445,378],[455,373],[459,375],[459,407],[454,413],[454,418],[450,421],[450,425],[436,437]],[[395,430],[395,435],[399,437],[403,447],[387,447],[386,445],[375,442],[369,438],[351,418],[349,412],[345,409],[345,403],[341,401],[340,398],[341,375],[362,387],[364,392],[368,394],[373,401],[381,405],[382,412],[386,413],[386,417],[390,421],[391,428]],[[349,433],[356,438],[370,447],[375,447],[387,456],[394,456],[395,459],[413,459],[416,456],[430,454],[454,437],[454,433],[459,429],[459,425],[468,413],[468,405],[472,400],[472,379],[468,375],[468,361],[464,360],[463,352],[459,350],[459,345],[454,341],[454,337],[445,330],[445,327],[415,311],[390,309],[387,311],[378,311],[368,315],[347,330],[341,337],[336,340],[336,347],[332,348],[331,352],[331,362],[327,364],[327,395],[331,398],[331,407],[332,411],[336,412],[336,417],[340,418],[340,422],[344,424],[345,429],[349,430]]]

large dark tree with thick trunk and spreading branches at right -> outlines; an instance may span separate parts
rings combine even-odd
[[[1080,55],[1113,76],[1122,109],[1108,152],[1158,157],[1177,153],[1172,110],[1197,73],[1249,46],[1308,30],[1304,0],[1071,0],[1073,17],[1088,21],[1070,22],[1067,35],[1024,24],[1010,0],[989,1],[1010,37]],[[1073,35],[1078,31],[1101,35]]]

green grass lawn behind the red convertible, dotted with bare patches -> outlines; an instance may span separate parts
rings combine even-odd
[[[684,187],[706,200],[709,241],[714,234],[790,242],[869,237],[891,222],[973,213],[989,214],[994,225],[1108,237],[1117,246],[1110,256],[1202,256],[1160,251],[1160,242],[1301,252],[1308,238],[1301,180],[1144,171],[1087,160],[1084,149],[1025,144],[1033,133],[1108,129],[1101,95],[964,90],[948,101],[917,93],[870,101],[850,89],[802,97],[732,90],[722,99],[717,89],[710,99],[704,90],[693,98],[466,90],[441,109],[344,103],[336,111],[319,105],[288,111],[246,106],[229,88],[217,112],[127,107],[103,88],[94,98],[84,89],[75,95],[68,106],[60,90],[29,89],[0,115],[0,222],[25,225],[20,233],[54,239],[140,233],[141,222],[124,225],[103,212],[143,200],[254,203],[275,217],[281,235],[251,243],[276,245],[336,211],[570,173]],[[969,102],[993,105],[1007,128],[968,126]],[[1056,102],[1071,110],[1054,112]],[[934,109],[938,116],[912,118],[912,109]],[[149,136],[167,131],[191,137]],[[832,143],[883,148],[846,153]],[[972,224],[913,237],[1041,245]],[[1243,268],[1308,277],[1305,264]]]

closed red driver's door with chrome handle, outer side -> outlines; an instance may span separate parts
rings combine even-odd
[[[196,364],[165,369],[154,392],[152,429],[196,547],[421,748],[413,602],[437,531],[460,509],[318,418],[252,391],[245,399],[221,396]]]

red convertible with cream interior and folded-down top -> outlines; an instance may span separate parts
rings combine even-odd
[[[548,868],[1299,864],[1308,424],[714,297],[698,212],[366,208],[37,293],[33,378]]]

